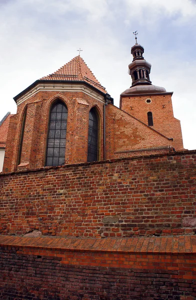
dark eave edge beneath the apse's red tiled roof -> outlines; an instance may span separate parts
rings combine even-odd
[[[55,83],[55,82],[67,82],[67,83],[84,83],[87,86],[90,86],[91,88],[95,89],[96,91],[98,91],[99,93],[101,93],[102,95],[105,95],[107,92],[103,92],[100,89],[94,87],[93,85],[91,85],[90,83],[84,81],[84,80],[44,80],[44,79],[38,79],[36,81],[34,81],[32,84],[30,84],[28,87],[26,87],[24,90],[22,90],[20,93],[18,93],[16,96],[13,97],[14,101],[16,102],[16,100],[21,97],[23,94],[25,94],[27,91],[29,91],[32,87],[36,86],[38,83],[44,83],[44,82],[51,82],[51,83]]]

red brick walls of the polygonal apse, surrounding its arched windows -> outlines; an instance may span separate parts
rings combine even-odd
[[[3,171],[31,169],[44,166],[47,140],[47,124],[52,102],[60,98],[68,109],[65,163],[85,162],[87,160],[88,113],[96,106],[100,116],[100,159],[103,159],[103,104],[83,92],[39,91],[17,107],[16,128],[11,126],[5,149]],[[82,104],[82,101],[85,104]],[[24,107],[27,105],[21,166],[17,167],[16,157],[19,148],[19,134]],[[10,155],[10,149],[12,155]]]

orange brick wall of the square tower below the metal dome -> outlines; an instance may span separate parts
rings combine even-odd
[[[151,99],[151,103],[146,103],[147,98]],[[163,105],[164,108],[162,108]],[[152,128],[167,137],[172,137],[175,150],[183,148],[180,121],[173,116],[171,95],[123,96],[121,109],[145,124],[148,124],[147,112],[151,111],[153,115]]]

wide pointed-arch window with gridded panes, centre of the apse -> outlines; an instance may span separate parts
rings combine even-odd
[[[64,164],[67,108],[57,100],[50,109],[45,165]]]

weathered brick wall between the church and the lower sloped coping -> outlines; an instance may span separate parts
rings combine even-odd
[[[0,174],[0,232],[195,233],[195,151]]]

